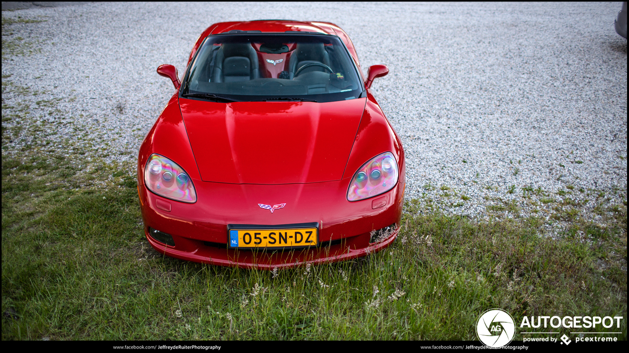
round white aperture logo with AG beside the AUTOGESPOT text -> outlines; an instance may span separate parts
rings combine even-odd
[[[478,319],[476,335],[483,344],[489,347],[502,347],[513,340],[515,321],[504,310],[489,309]]]

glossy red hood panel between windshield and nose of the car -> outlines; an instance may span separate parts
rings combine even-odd
[[[342,178],[365,101],[179,106],[203,181],[286,184]]]

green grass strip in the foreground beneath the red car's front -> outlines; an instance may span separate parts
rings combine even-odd
[[[53,182],[76,177],[67,168],[3,157],[3,340],[476,340],[493,307],[626,317],[626,207],[606,210],[615,227],[552,239],[538,219],[416,215],[408,202],[386,251],[272,273],[156,253],[127,173],[110,174],[120,188],[75,190]]]

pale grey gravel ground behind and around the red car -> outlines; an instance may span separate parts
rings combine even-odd
[[[91,3],[3,11],[3,131],[26,127],[17,137],[3,133],[3,155],[56,148],[67,158],[130,166],[173,92],[155,68],[170,63],[182,75],[209,24],[330,21],[350,35],[365,71],[389,67],[374,91],[406,149],[407,198],[484,219],[548,219],[572,202],[578,217],[596,220],[596,206],[626,207],[619,10],[619,3]],[[29,109],[5,121],[19,106]]]

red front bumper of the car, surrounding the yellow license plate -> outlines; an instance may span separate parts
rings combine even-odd
[[[371,232],[399,225],[403,207],[403,178],[382,195],[348,202],[348,179],[333,182],[253,185],[193,180],[198,201],[184,204],[160,197],[138,185],[145,235],[162,254],[173,258],[242,268],[287,268],[304,263],[329,263],[366,256],[389,246],[399,227],[370,242]],[[282,204],[261,209],[258,204]],[[318,247],[292,251],[229,249],[228,224],[319,224]],[[170,234],[167,246],[149,234],[149,227]]]

